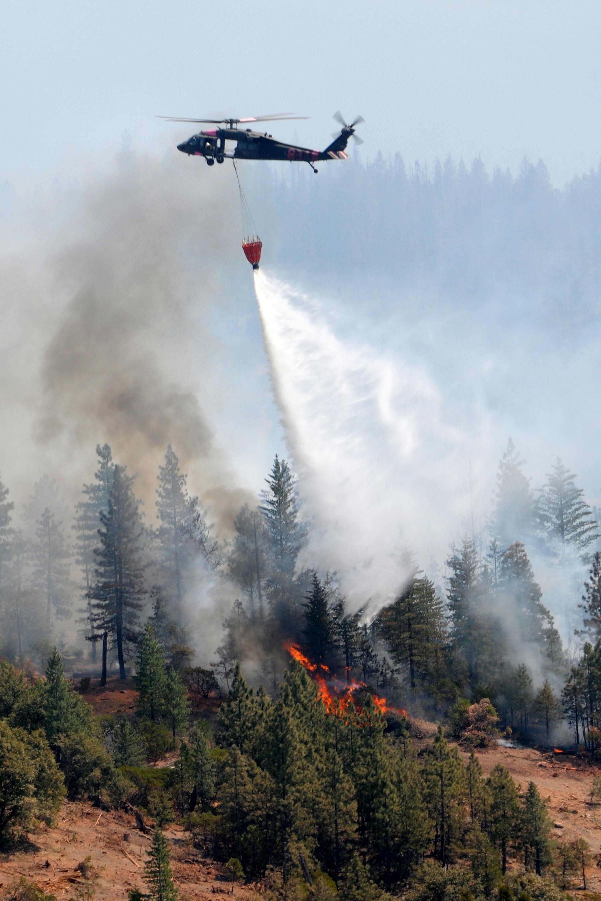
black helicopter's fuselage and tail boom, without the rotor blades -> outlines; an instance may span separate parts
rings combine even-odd
[[[267,132],[249,129],[216,128],[210,132],[198,132],[187,141],[178,144],[178,150],[188,156],[205,157],[207,162],[223,163],[224,159],[288,159],[313,164],[320,159],[348,159],[344,152],[352,131],[342,129],[335,141],[325,150],[310,150],[285,144],[272,138]],[[235,148],[227,150],[226,141],[235,141]]]

